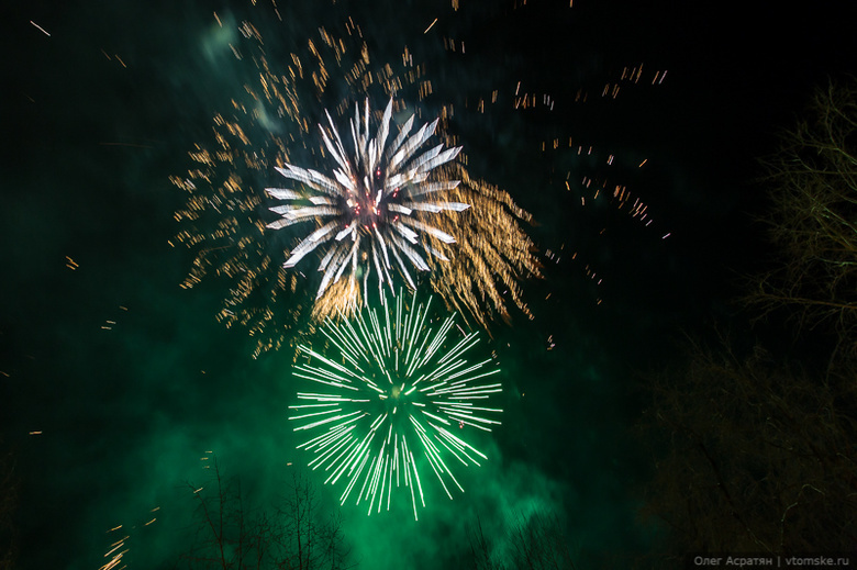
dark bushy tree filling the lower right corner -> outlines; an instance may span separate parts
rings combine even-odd
[[[857,385],[832,387],[757,348],[694,346],[647,412],[667,452],[645,513],[688,552],[811,552],[857,544]]]

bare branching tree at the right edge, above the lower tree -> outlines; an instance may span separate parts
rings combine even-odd
[[[817,89],[806,118],[763,160],[780,257],[750,278],[748,301],[767,315],[788,309],[799,323],[823,323],[855,349],[857,326],[857,81]]]

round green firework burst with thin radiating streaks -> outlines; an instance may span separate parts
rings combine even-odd
[[[298,393],[289,420],[296,432],[311,434],[298,446],[314,454],[309,466],[327,473],[325,483],[344,485],[342,504],[352,499],[371,514],[405,494],[419,518],[421,469],[427,465],[452,499],[454,488],[464,492],[452,467],[487,459],[464,437],[500,424],[501,410],[487,406],[502,391],[491,379],[500,369],[491,358],[468,360],[478,334],[450,334],[455,315],[432,324],[431,299],[418,304],[415,294],[401,292],[381,299],[381,311],[329,320],[321,327],[324,350],[300,347],[307,360],[293,373],[318,388]]]

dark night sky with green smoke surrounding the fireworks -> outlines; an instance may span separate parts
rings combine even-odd
[[[580,568],[656,548],[658,528],[637,519],[652,471],[633,435],[646,375],[687,333],[744,326],[728,301],[768,254],[755,159],[815,86],[857,70],[854,2],[281,1],[282,21],[257,4],[0,9],[0,445],[20,480],[19,567],[99,568],[121,524],[131,568],[168,568],[193,513],[189,485],[209,480],[207,451],[261,505],[308,461],[287,422],[293,349],[252,358],[246,332],[215,322],[225,282],[179,288],[193,254],[168,244],[183,200],[169,177],[254,74],[223,30],[251,21],[286,57],[349,16],[374,62],[408,46],[425,63],[429,112],[456,102],[471,175],[533,214],[545,275],[522,283],[533,321],[513,310],[511,325],[491,326],[504,412],[482,438],[489,461],[459,471],[466,492],[453,501],[431,495],[419,523],[342,507],[353,559],[456,568],[477,517],[501,537],[534,513],[561,522]],[[639,65],[646,80],[620,80]],[[615,99],[601,96],[617,82]],[[514,109],[519,83],[554,109]],[[487,112],[465,105],[493,90],[501,103]],[[575,152],[550,149],[569,137]],[[609,200],[581,204],[585,177],[625,186],[653,223]],[[337,489],[311,477],[333,508]]]

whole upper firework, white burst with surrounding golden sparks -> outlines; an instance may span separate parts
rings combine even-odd
[[[485,327],[498,316],[509,320],[510,306],[532,316],[520,287],[521,280],[539,276],[534,244],[521,225],[530,222],[530,214],[505,191],[467,171],[467,157],[448,132],[448,119],[458,111],[452,104],[442,105],[435,114],[437,121],[405,134],[398,150],[413,147],[401,153],[399,163],[390,168],[396,153],[387,153],[408,126],[394,133],[398,126],[392,118],[405,110],[405,98],[415,105],[434,90],[425,66],[415,64],[407,48],[400,64],[374,63],[353,25],[346,26],[345,37],[319,29],[319,35],[302,49],[277,57],[278,63],[272,64],[275,56],[268,51],[278,47],[277,43],[264,42],[248,22],[238,27],[241,40],[233,45],[236,69],[243,72],[249,67],[254,76],[244,85],[244,97],[236,94],[231,108],[214,118],[213,141],[196,145],[190,152],[192,166],[171,178],[187,199],[176,212],[181,228],[170,244],[189,248],[193,256],[183,288],[197,287],[212,276],[225,281],[227,293],[218,320],[229,327],[245,327],[258,343],[254,356],[279,348],[285,333],[299,328],[307,316],[322,321],[341,313],[355,314],[366,303],[367,279],[392,286],[391,280],[401,276],[400,284],[412,287],[425,276],[422,279],[447,308]],[[371,110],[367,116],[366,105],[361,105],[361,116],[348,126],[354,132],[344,137],[360,144],[349,144],[346,153],[336,125],[347,124],[344,118],[354,114],[355,101],[363,103],[367,97],[385,101],[393,94],[397,99],[390,119],[385,119],[386,112]],[[331,119],[320,141],[311,119],[323,118],[324,109],[330,110]],[[421,109],[412,109],[419,116]],[[369,124],[379,125],[374,137]],[[385,133],[386,138],[381,136]],[[445,148],[432,158],[436,145],[421,152],[426,142],[423,137],[431,136]],[[423,158],[426,161],[418,166]],[[380,179],[367,169],[369,163],[387,167]],[[266,185],[276,186],[270,182],[275,178],[282,180],[275,168],[297,180],[298,188],[266,194]],[[411,170],[420,168],[422,171],[412,175],[414,179],[407,180]],[[336,190],[325,187],[313,170],[329,172],[318,176],[324,176]],[[336,177],[337,170],[346,180]],[[355,203],[360,204],[359,227],[355,225],[342,235],[347,227],[343,221],[358,219],[347,198],[337,203],[348,188],[348,174],[355,175],[356,186],[371,187],[376,195],[355,193]],[[402,190],[396,197],[392,192],[381,195],[378,205],[393,209],[380,208],[378,215],[385,222],[399,215],[396,222],[400,225],[377,224],[381,242],[375,228],[370,231],[370,224],[364,223],[369,221],[365,216],[371,212],[377,189],[397,185],[396,174],[403,176],[398,182]],[[424,175],[429,176],[420,180]],[[455,186],[455,181],[460,183]],[[292,198],[297,194],[301,199]],[[277,205],[271,197],[287,203]],[[334,203],[314,204],[312,199]],[[271,217],[271,206],[282,209],[279,220]],[[337,219],[324,209],[335,209],[341,215]],[[402,209],[412,212],[407,215]],[[331,222],[341,227],[321,236],[318,232]],[[271,230],[271,223],[281,228]],[[311,235],[313,239],[308,241]],[[299,261],[320,252],[331,257],[321,255],[319,260],[304,259],[303,264],[322,271],[301,271]],[[298,265],[283,267],[283,261]]]

